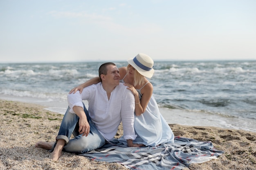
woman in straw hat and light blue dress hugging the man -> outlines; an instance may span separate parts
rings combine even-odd
[[[119,74],[120,81],[135,96],[134,129],[138,136],[133,142],[146,146],[173,143],[174,134],[160,114],[155,98],[152,96],[153,85],[147,80],[154,74],[154,61],[148,55],[139,53],[127,62],[127,67],[119,68]],[[74,87],[70,93],[77,90],[80,90],[81,93],[84,87],[99,82],[99,78],[92,78],[78,87]],[[123,138],[120,138],[119,141],[126,142]]]

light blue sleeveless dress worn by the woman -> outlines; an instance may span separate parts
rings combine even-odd
[[[121,80],[121,82],[124,83],[124,80]],[[141,99],[142,96],[140,91],[144,86],[137,89],[139,99]],[[151,96],[148,102],[146,111],[140,116],[135,115],[134,129],[137,138],[133,143],[144,144],[146,146],[157,146],[161,143],[174,143],[173,131],[159,112],[157,102],[153,96]],[[118,140],[119,142],[126,143],[123,137]]]

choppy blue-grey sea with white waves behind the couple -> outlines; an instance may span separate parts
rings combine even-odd
[[[102,63],[0,63],[0,99],[65,114],[70,89],[98,76]],[[155,61],[154,69],[149,81],[168,123],[256,132],[256,60]]]

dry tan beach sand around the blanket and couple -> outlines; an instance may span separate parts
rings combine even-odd
[[[48,159],[49,151],[35,148],[35,143],[54,141],[63,115],[43,108],[30,103],[0,100],[0,170],[126,169],[118,163],[92,161],[67,152],[63,152],[57,162]],[[217,150],[225,151],[216,160],[191,164],[184,170],[256,169],[256,133],[215,127],[170,126],[175,136],[212,141]],[[121,128],[118,133],[121,135]]]

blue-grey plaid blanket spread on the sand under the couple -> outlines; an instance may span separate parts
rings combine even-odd
[[[132,170],[182,170],[191,163],[217,159],[222,153],[213,148],[211,141],[175,137],[174,143],[139,148],[127,147],[116,140],[98,150],[79,155],[97,161],[121,163]]]

